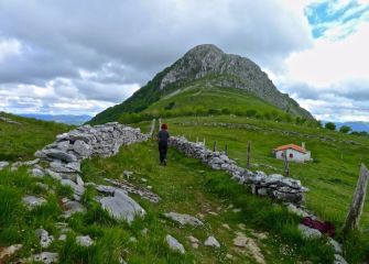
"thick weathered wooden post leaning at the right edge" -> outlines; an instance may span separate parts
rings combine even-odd
[[[348,209],[345,226],[343,228],[344,234],[347,234],[350,230],[359,226],[363,204],[366,200],[368,182],[369,182],[368,168],[363,165],[363,163],[361,163],[358,184],[356,186],[352,201]]]

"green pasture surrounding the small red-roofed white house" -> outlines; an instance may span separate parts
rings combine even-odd
[[[354,194],[361,162],[369,165],[369,139],[345,135],[324,129],[259,121],[236,117],[165,119],[173,134],[184,134],[192,141],[206,140],[209,148],[217,141],[218,150],[228,146],[228,155],[241,166],[247,164],[247,142],[251,142],[252,170],[283,174],[283,161],[275,160],[272,150],[279,145],[306,143],[314,162],[291,163],[291,176],[311,189],[308,208],[323,219],[340,227]],[[223,124],[223,125],[221,125]],[[291,132],[291,133],[289,133]],[[306,135],[310,135],[307,138]],[[369,229],[367,197],[361,227]]]

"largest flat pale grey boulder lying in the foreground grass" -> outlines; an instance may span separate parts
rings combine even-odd
[[[100,199],[101,207],[117,220],[132,222],[135,216],[143,217],[145,210],[124,191],[116,189],[112,197]]]

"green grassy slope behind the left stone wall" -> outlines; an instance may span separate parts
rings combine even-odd
[[[55,122],[21,118],[0,112],[0,161],[33,160],[33,153],[53,142],[55,135],[66,132],[72,127]],[[11,122],[13,121],[13,122]]]

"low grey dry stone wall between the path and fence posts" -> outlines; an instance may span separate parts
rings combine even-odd
[[[249,185],[254,195],[269,196],[273,199],[287,201],[294,205],[303,204],[303,194],[308,189],[297,179],[284,177],[279,174],[267,175],[263,172],[252,173],[236,165],[223,152],[207,150],[202,142],[189,142],[185,138],[171,138],[170,145],[187,156],[200,160],[214,169],[226,170],[239,184]]]

